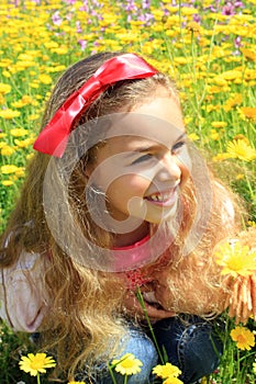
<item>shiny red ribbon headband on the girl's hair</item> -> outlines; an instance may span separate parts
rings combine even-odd
[[[158,71],[143,58],[124,54],[107,60],[94,75],[74,92],[40,133],[33,148],[62,157],[74,123],[108,87],[116,81],[143,79]]]

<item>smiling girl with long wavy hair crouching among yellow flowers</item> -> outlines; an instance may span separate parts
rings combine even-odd
[[[36,332],[65,380],[111,383],[108,363],[131,352],[129,383],[153,382],[146,318],[183,383],[212,372],[209,318],[235,305],[212,253],[237,227],[172,81],[133,54],[91,56],[58,80],[42,126],[2,238],[0,316]]]

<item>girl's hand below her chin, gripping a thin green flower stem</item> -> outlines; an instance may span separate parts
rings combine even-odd
[[[137,300],[135,292],[133,291],[126,292],[123,307],[124,307],[124,312],[129,316],[133,316],[140,320],[145,320],[146,319],[145,312],[146,312],[151,321],[157,321],[163,318],[176,316],[176,314],[172,310],[166,310],[162,308],[157,303],[148,303],[147,297],[148,298],[151,296],[153,297],[154,294],[152,294],[152,292],[149,292],[147,289],[141,289],[141,291],[142,291],[142,296],[144,296],[145,294],[145,297],[143,297],[144,308],[142,307],[142,304]]]

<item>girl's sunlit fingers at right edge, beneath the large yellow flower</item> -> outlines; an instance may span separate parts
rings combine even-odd
[[[231,295],[226,305],[230,317],[235,317],[235,323],[247,323],[253,315],[256,318],[256,272],[247,276],[237,276],[231,283]]]

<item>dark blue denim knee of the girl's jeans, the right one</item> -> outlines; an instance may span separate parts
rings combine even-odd
[[[166,350],[168,361],[181,370],[185,384],[196,383],[213,372],[223,352],[219,320],[205,321],[197,316],[164,319],[154,326],[159,349]]]

